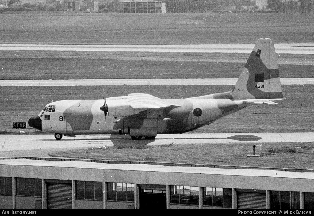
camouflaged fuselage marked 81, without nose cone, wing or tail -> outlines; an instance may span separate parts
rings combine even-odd
[[[133,109],[124,99],[107,98],[108,113],[105,114],[100,110],[105,100],[63,100],[46,105],[38,116],[41,130],[45,132],[156,136],[191,131],[245,106],[242,101],[230,99],[162,101],[174,105],[141,110]]]

